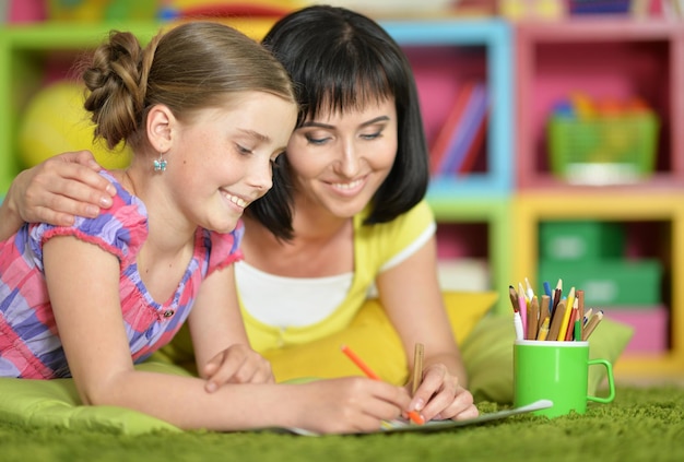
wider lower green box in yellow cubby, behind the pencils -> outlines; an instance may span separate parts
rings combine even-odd
[[[539,280],[552,286],[563,280],[563,294],[570,287],[585,291],[585,308],[658,305],[662,265],[658,260],[612,260],[589,263],[541,261]]]

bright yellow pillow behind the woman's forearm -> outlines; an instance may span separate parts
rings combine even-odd
[[[495,292],[445,292],[443,296],[459,345],[498,298]],[[262,354],[271,362],[279,382],[362,375],[342,354],[342,345],[354,350],[382,380],[394,384],[406,382],[409,371],[401,341],[377,299],[367,300],[350,327],[340,332]]]

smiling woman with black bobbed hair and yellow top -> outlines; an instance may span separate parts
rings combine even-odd
[[[427,149],[405,55],[370,19],[322,5],[281,19],[263,45],[294,80],[302,110],[273,189],[245,215],[235,271],[251,345],[340,331],[375,286],[406,357],[425,345],[412,408],[426,419],[476,415],[437,281]],[[106,206],[106,185],[80,165],[89,162],[75,153],[20,175],[8,223]]]

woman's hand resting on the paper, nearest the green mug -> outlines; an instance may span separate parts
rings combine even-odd
[[[450,375],[443,364],[433,364],[423,370],[423,381],[411,402],[425,420],[462,420],[479,415],[473,395]]]

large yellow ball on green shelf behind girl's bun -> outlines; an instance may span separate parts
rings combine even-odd
[[[19,120],[17,143],[25,167],[32,167],[64,151],[91,150],[105,168],[123,168],[130,151],[118,146],[109,151],[94,143],[94,126],[83,108],[83,86],[58,81],[42,88],[30,100]]]

